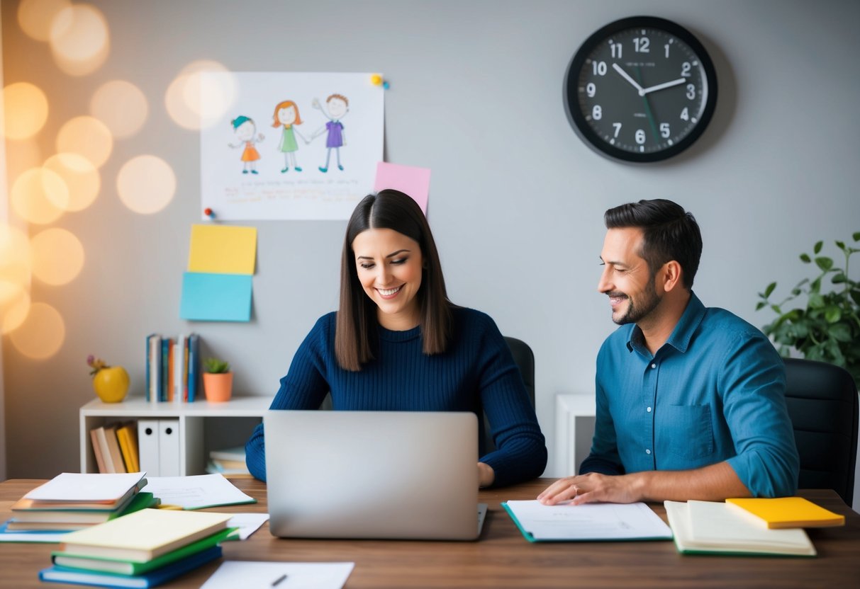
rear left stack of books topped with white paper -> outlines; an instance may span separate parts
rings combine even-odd
[[[139,492],[145,485],[142,472],[105,475],[64,472],[15,501],[12,519],[3,525],[3,531],[81,530],[157,506],[160,500],[151,493]]]

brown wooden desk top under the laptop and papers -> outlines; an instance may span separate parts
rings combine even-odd
[[[845,527],[809,530],[817,558],[682,556],[672,542],[529,543],[499,503],[531,499],[552,479],[482,491],[489,504],[477,542],[283,540],[268,525],[245,542],[224,543],[224,558],[246,561],[355,562],[347,587],[851,587],[860,580],[860,515],[830,490],[800,495],[847,516]],[[43,481],[0,483],[0,518]],[[233,479],[259,503],[212,511],[265,512],[266,485]],[[357,508],[359,506],[356,506]],[[652,505],[665,519],[662,505]],[[46,587],[37,573],[57,544],[0,544],[0,586]],[[218,567],[212,562],[164,587],[199,587]]]

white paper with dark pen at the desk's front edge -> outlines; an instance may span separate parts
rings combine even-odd
[[[200,589],[341,589],[354,562],[222,562]]]

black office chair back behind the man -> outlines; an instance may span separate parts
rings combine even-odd
[[[785,403],[801,458],[799,489],[833,489],[854,499],[857,386],[845,368],[785,359]]]

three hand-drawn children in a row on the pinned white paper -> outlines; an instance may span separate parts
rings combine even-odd
[[[326,104],[323,106],[318,99],[314,99],[311,106],[322,112],[325,118],[329,121],[323,124],[319,129],[314,131],[310,138],[304,137],[298,131],[298,124],[302,124],[302,118],[298,113],[298,105],[292,100],[283,100],[274,107],[272,126],[281,128],[280,143],[278,151],[284,155],[284,167],[280,173],[287,173],[292,167],[296,172],[301,172],[302,167],[298,165],[296,152],[298,151],[298,142],[296,136],[304,141],[305,145],[310,145],[310,142],[320,137],[323,133],[326,137],[326,157],[325,166],[320,166],[318,169],[322,173],[329,172],[329,162],[331,160],[331,150],[335,149],[335,158],[337,161],[337,169],[343,170],[341,164],[341,147],[347,144],[347,137],[343,132],[343,123],[341,118],[344,118],[349,112],[349,100],[342,94],[330,94],[326,99]],[[233,125],[233,132],[236,134],[240,143],[229,143],[230,147],[236,149],[244,145],[245,149],[242,153],[243,170],[242,173],[257,173],[256,162],[260,159],[260,152],[255,148],[256,143],[261,143],[265,138],[262,133],[257,135],[256,125],[251,118],[240,116],[230,121]]]

